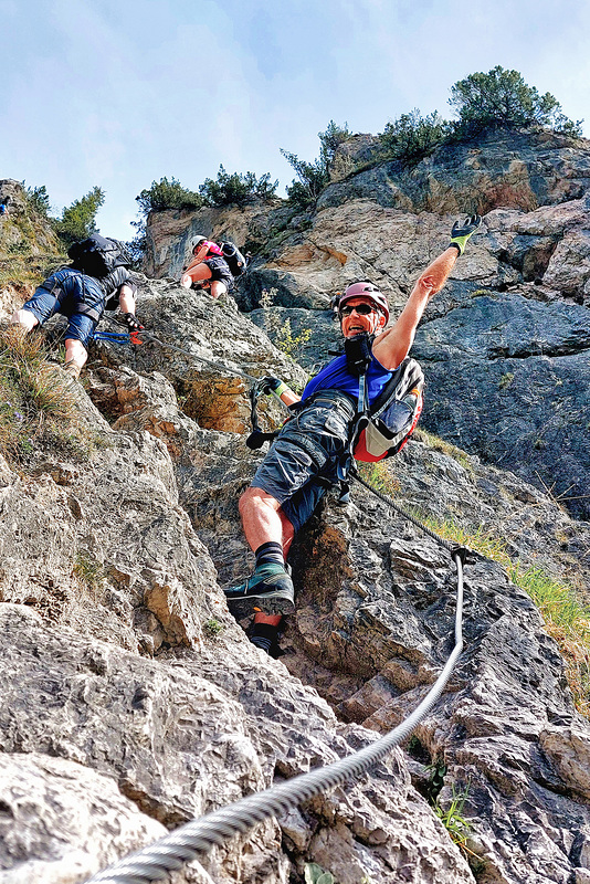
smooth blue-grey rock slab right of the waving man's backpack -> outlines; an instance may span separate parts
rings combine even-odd
[[[542,483],[588,519],[589,344],[586,308],[473,298],[417,336],[428,380],[423,425]]]

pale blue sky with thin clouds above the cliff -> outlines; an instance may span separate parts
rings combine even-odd
[[[162,176],[198,189],[220,164],[293,171],[330,119],[382,131],[496,64],[550,92],[590,136],[588,0],[0,0],[0,178],[56,211],[95,185],[103,233],[129,239]]]

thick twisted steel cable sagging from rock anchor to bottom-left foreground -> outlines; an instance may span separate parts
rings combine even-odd
[[[442,695],[463,650],[463,564],[460,552],[453,551],[451,555],[457,577],[455,645],[433,686],[405,720],[370,746],[333,765],[302,774],[264,792],[256,792],[201,819],[192,820],[150,846],[98,872],[86,884],[150,884],[154,881],[164,881],[169,872],[178,870],[198,854],[207,853],[213,845],[221,845],[236,834],[244,834],[256,823],[277,817],[351,778],[360,777],[409,737]]]

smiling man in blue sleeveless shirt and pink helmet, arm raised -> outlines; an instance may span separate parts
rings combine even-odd
[[[463,225],[453,227],[449,248],[420,275],[391,328],[386,330],[387,297],[372,283],[354,283],[339,298],[345,341],[359,335],[375,336],[366,375],[369,402],[408,356],[430,298],[443,287],[480,224],[480,217],[473,215]],[[350,371],[347,357],[340,356],[309,381],[301,398],[276,378],[268,378],[267,390],[286,406],[299,406],[240,499],[243,530],[256,557],[254,573],[225,590],[228,604],[238,617],[256,612],[251,638],[265,651],[281,615],[295,610],[293,582],[285,567],[295,532],[309,518],[327,487],[341,477],[343,465],[347,469],[359,377]]]

